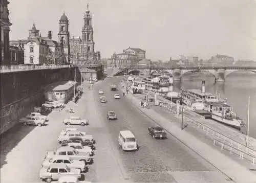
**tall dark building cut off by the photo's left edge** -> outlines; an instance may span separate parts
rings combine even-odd
[[[0,64],[1,65],[10,65],[10,47],[9,47],[9,33],[10,26],[12,25],[9,20],[9,10],[8,10],[9,2],[7,0],[1,0],[1,17],[0,17],[0,25],[1,25],[1,56],[0,56]]]

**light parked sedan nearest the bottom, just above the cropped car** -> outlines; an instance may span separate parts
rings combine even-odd
[[[76,178],[81,178],[81,172],[75,168],[69,168],[65,164],[51,164],[49,168],[41,168],[39,177],[46,182],[58,180],[63,175],[71,175]]]

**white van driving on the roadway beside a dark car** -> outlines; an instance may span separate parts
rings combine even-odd
[[[138,148],[135,136],[130,130],[119,131],[118,143],[123,150],[137,150]]]

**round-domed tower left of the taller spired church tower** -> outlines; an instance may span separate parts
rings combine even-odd
[[[62,16],[59,19],[59,33],[58,39],[62,44],[63,49],[66,55],[66,61],[70,63],[70,43],[69,43],[69,19],[63,12]]]

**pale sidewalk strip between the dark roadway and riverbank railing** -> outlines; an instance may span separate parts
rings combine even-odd
[[[246,167],[233,161],[228,156],[215,150],[214,148],[200,142],[195,136],[187,133],[185,130],[181,131],[174,123],[170,121],[175,121],[173,119],[166,119],[159,115],[153,109],[145,109],[140,107],[140,100],[133,97],[132,94],[127,96],[134,106],[139,108],[146,116],[156,121],[160,126],[164,127],[168,132],[172,133],[184,144],[187,144],[191,149],[200,154],[204,159],[218,168],[220,171],[225,173],[228,177],[232,178],[236,182],[255,182],[256,175],[250,172]],[[177,119],[176,119],[177,121]],[[225,162],[225,164],[223,164]]]

